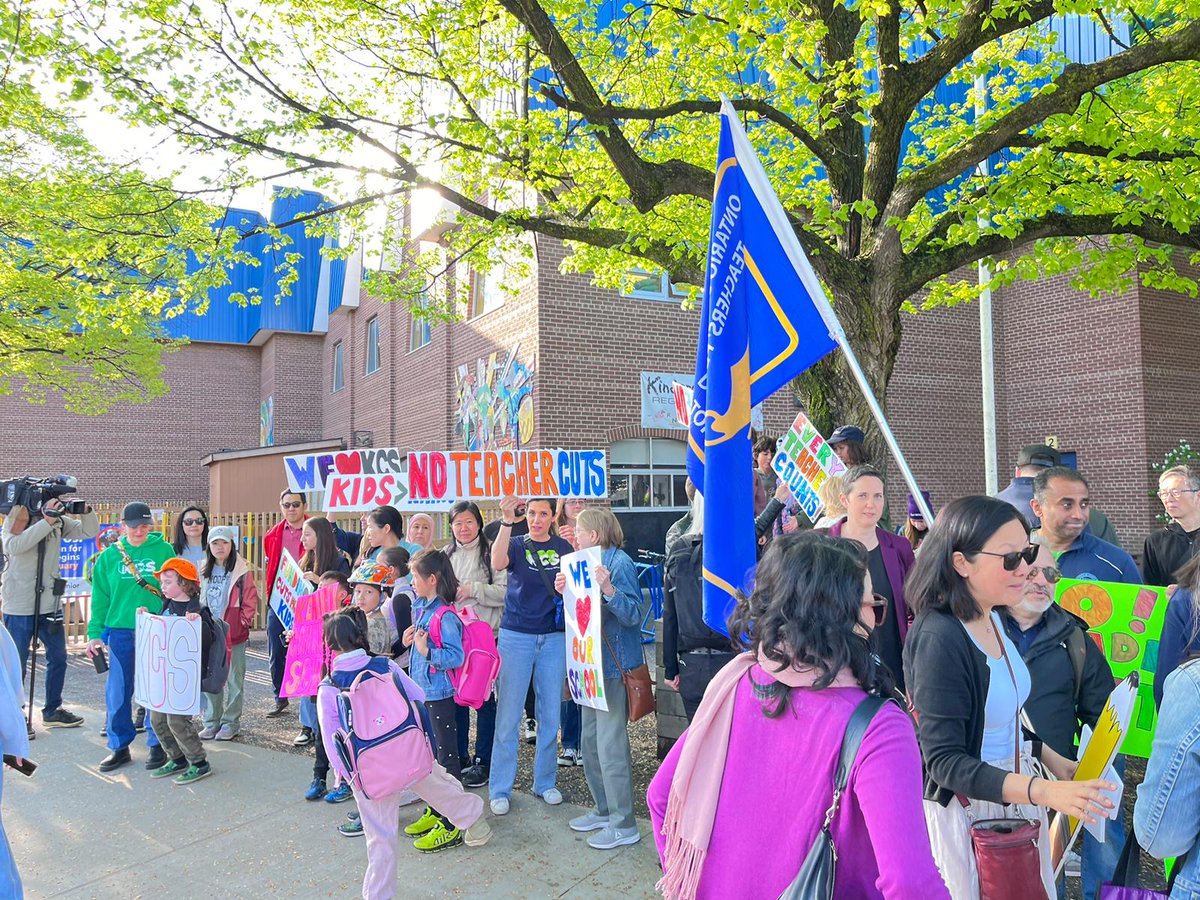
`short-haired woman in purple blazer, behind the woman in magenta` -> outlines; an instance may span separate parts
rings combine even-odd
[[[875,590],[892,604],[883,625],[871,634],[871,648],[892,670],[904,691],[901,648],[908,634],[905,577],[916,558],[912,545],[880,528],[886,505],[883,474],[874,466],[856,466],[841,476],[841,505],[846,517],[829,528],[834,538],[850,538],[866,548],[866,568]]]

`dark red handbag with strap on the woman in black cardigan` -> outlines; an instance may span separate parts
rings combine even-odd
[[[1000,638],[1000,655],[1008,666],[1016,694],[1016,673],[1004,649],[1004,635]],[[1021,710],[1016,710],[1013,732],[1013,772],[1021,770]],[[965,797],[959,797],[968,806]],[[1046,889],[1042,882],[1042,857],[1038,853],[1038,836],[1042,823],[1036,818],[1016,816],[1006,818],[982,818],[971,823],[971,847],[974,850],[976,869],[979,872],[979,900],[1045,900]]]

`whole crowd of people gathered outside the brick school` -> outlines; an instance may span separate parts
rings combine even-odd
[[[775,442],[755,443],[748,488],[760,562],[727,623],[732,638],[703,617],[704,499],[690,485],[690,509],[667,533],[664,679],[679,692],[689,727],[647,794],[664,895],[812,895],[804,892],[815,882],[804,880],[827,841],[835,848],[824,864],[828,883],[836,888],[821,896],[990,900],[995,859],[977,846],[976,828],[1006,820],[1024,821],[1036,850],[1008,865],[1009,893],[1001,895],[1058,896],[1055,814],[1106,818],[1103,841],[1085,832],[1078,844],[1085,900],[1099,896],[1127,841],[1158,858],[1182,857],[1172,896],[1200,892],[1200,862],[1189,852],[1200,832],[1200,667],[1189,661],[1200,653],[1200,472],[1163,473],[1159,497],[1171,521],[1147,536],[1139,570],[1092,508],[1087,480],[1052,448],[1025,448],[998,497],[953,499],[934,523],[923,512],[932,498],[922,504],[910,496],[893,527],[886,476],[870,464],[862,430],[838,428],[829,443],[847,468],[821,486],[817,522],[774,479]],[[640,840],[623,674],[643,662],[643,598],[611,510],[505,497],[485,526],[480,509],[461,502],[439,548],[426,515],[406,521],[380,506],[356,533],[310,515],[295,492],[281,493],[280,509],[264,536],[266,590],[287,551],[312,590],[329,586],[338,600],[322,629],[328,671],[316,695],[298,703],[294,743],[314,754],[312,781],[302,792],[298,786],[298,797],[354,802],[338,830],[366,839],[365,898],[396,892],[402,806],[424,804],[403,829],[419,852],[486,844],[494,822],[510,815],[522,740],[534,744],[529,787],[548,805],[563,802],[558,769],[583,767],[593,804],[569,827],[588,834],[590,847]],[[52,504],[38,516],[14,510],[4,526],[0,746],[18,762],[34,737],[20,706],[35,634],[47,655],[42,722],[82,724],[61,704],[58,598],[52,588],[35,613],[30,553],[43,539],[55,544],[44,572],[53,583],[56,542],[98,528],[95,515],[66,516]],[[108,665],[109,754],[100,770],[131,764],[144,730],[150,776],[187,785],[214,774],[209,742],[239,737],[246,644],[265,598],[234,530],[210,527],[203,509],[179,515],[169,541],[152,526],[146,504],[127,504],[120,540],[92,572],[86,653],[97,668]],[[593,547],[601,558],[598,656],[607,710],[563,700],[559,562]],[[1063,577],[1159,584],[1170,594],[1154,683],[1163,714],[1136,802],[1126,794],[1134,803],[1129,835],[1110,798],[1117,785],[1075,780],[1080,731],[1096,725],[1114,677],[1087,624],[1054,602]],[[148,612],[200,623],[214,685],[205,682],[198,719],[158,712],[144,726],[136,719],[134,629]],[[268,715],[278,719],[290,710],[283,682],[294,635],[274,611],[266,622],[275,698]],[[485,623],[479,628],[491,632],[502,665],[494,692],[464,703],[455,673],[472,622]],[[208,664],[218,641],[228,670],[220,678]],[[424,736],[419,746],[397,737],[394,746],[404,749],[384,773],[348,743],[360,736],[347,731],[343,712],[360,686],[376,682],[398,691]],[[1115,772],[1123,774],[1121,757]],[[486,804],[478,788],[486,788]],[[0,889],[6,878],[19,892],[0,841]]]

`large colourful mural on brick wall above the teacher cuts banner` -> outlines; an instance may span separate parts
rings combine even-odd
[[[533,440],[535,360],[517,359],[521,344],[455,371],[455,433],[464,450],[517,450]]]

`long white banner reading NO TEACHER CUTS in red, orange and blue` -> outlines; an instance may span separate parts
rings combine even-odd
[[[502,497],[608,496],[604,450],[413,450],[408,509],[450,509]]]

